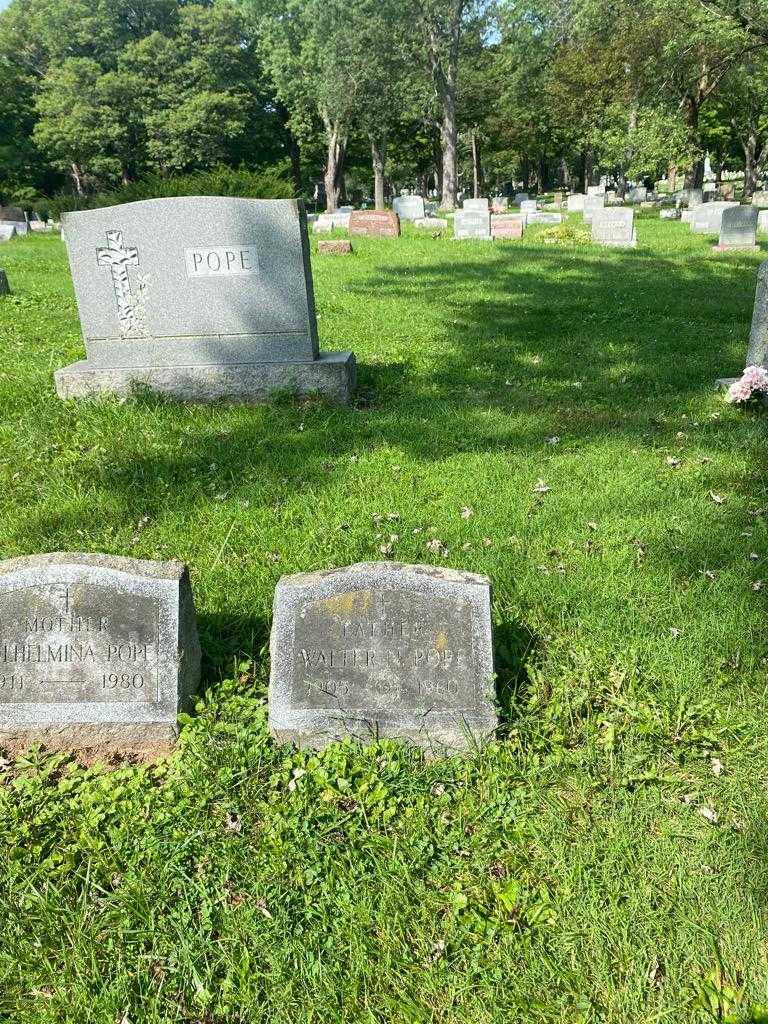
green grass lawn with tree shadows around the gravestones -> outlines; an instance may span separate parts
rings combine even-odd
[[[63,246],[0,247],[0,557],[179,558],[206,655],[169,760],[0,761],[1,1021],[764,1019],[768,249],[637,234],[313,257],[349,409],[61,402]],[[479,755],[267,735],[278,579],[384,557],[494,582]]]

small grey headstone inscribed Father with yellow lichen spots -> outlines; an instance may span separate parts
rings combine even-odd
[[[485,577],[368,562],[278,584],[269,728],[280,740],[472,749],[498,724],[493,679]]]

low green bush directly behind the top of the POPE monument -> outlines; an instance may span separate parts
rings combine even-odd
[[[288,166],[279,164],[259,171],[245,168],[216,167],[210,171],[198,171],[165,178],[158,174],[121,185],[111,191],[93,193],[88,196],[60,194],[50,200],[40,200],[34,204],[42,216],[55,218],[73,210],[95,210],[102,206],[120,206],[143,199],[166,199],[173,196],[236,196],[244,199],[292,199],[293,184]]]

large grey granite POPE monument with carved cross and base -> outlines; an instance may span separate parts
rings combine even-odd
[[[354,356],[318,349],[300,202],[147,200],[65,227],[88,358],[56,373],[59,397],[349,397]]]

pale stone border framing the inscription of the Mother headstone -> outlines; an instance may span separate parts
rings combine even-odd
[[[38,555],[23,555],[0,561],[0,585],[2,581],[18,572],[43,572],[62,566],[68,569],[95,570],[94,584],[105,585],[106,579],[98,580],[102,572],[121,573],[132,580],[144,580],[159,600],[176,604],[175,620],[176,656],[168,665],[176,677],[175,708],[172,713],[164,713],[158,701],[156,720],[135,721],[130,718],[101,717],[91,711],[83,721],[72,719],[54,723],[26,721],[29,712],[25,705],[3,706],[4,721],[0,723],[0,749],[19,752],[31,743],[41,742],[48,750],[86,751],[97,749],[111,753],[136,754],[156,757],[170,753],[178,738],[177,715],[189,710],[194,694],[200,685],[202,649],[198,636],[195,599],[187,566],[180,561],[150,561],[122,555],[104,555],[93,552],[55,551]],[[33,575],[34,580],[35,577]],[[165,585],[166,592],[162,592]],[[173,588],[173,590],[169,589]],[[159,637],[159,640],[161,638]],[[169,642],[174,637],[168,638]],[[40,709],[46,707],[41,703]],[[128,709],[130,706],[126,706]],[[8,709],[11,709],[9,714]],[[115,712],[112,713],[115,715]],[[129,715],[129,710],[121,709],[121,715]],[[12,721],[12,719],[16,721]],[[90,718],[90,720],[88,720]]]

